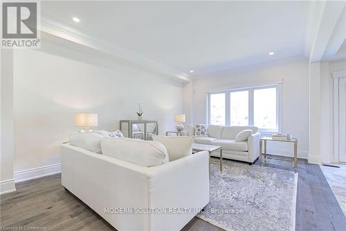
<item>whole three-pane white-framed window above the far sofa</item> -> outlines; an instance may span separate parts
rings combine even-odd
[[[281,85],[248,87],[208,94],[208,123],[257,126],[262,132],[280,132]]]

